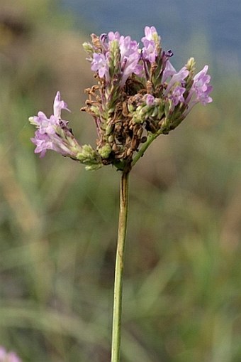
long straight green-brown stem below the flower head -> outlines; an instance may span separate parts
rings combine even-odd
[[[123,289],[123,266],[124,266],[126,224],[127,224],[127,215],[128,215],[128,176],[129,172],[123,171],[120,181],[120,213],[119,213],[119,225],[118,225],[118,240],[116,247],[111,362],[120,361],[120,329],[121,329],[121,309],[122,309],[122,289]]]

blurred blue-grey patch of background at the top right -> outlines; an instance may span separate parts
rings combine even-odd
[[[208,43],[214,63],[223,68],[240,68],[240,0],[61,0],[61,3],[74,10],[77,24],[80,28],[84,25],[88,32],[113,30],[140,40],[143,27],[154,25],[162,35],[164,48],[172,48],[185,60],[186,47],[190,44],[195,56]]]

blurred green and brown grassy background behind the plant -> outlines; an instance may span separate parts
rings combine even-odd
[[[53,1],[1,0],[0,344],[23,362],[110,360],[120,174],[40,160],[29,140],[28,117],[50,115],[60,90],[79,142],[95,142],[79,112],[94,84],[89,35],[74,23]],[[186,58],[211,64],[213,103],[130,178],[123,362],[241,361],[240,73],[212,68],[201,44]]]

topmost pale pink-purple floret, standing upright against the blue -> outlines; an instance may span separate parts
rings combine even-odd
[[[145,60],[149,60],[150,63],[154,63],[158,55],[158,47],[160,43],[160,37],[157,34],[154,26],[145,26],[145,36],[142,38],[144,47],[142,48],[142,56]]]

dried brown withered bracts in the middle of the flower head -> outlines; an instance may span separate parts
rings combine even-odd
[[[108,119],[105,119],[102,102],[105,94],[104,87],[102,81],[101,85],[87,88],[85,92],[89,95],[89,99],[86,100],[86,106],[82,107],[81,110],[94,117],[98,134],[96,139],[97,150],[102,149],[106,144],[110,146],[111,151],[108,156],[102,157],[103,164],[117,165],[121,161],[125,168],[130,168],[133,154],[138,151],[140,143],[146,141],[146,136],[143,124],[133,121],[128,105],[137,107],[142,100],[142,92],[145,94],[147,90],[142,90],[136,95],[128,95],[127,92],[132,92],[134,88],[134,84],[131,85],[131,82],[128,82],[128,85],[120,90],[119,101],[116,102],[113,112],[108,113]]]

